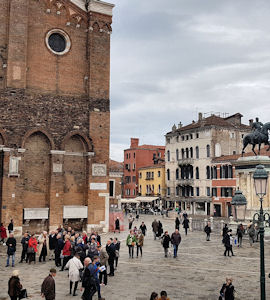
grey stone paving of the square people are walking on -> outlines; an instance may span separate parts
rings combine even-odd
[[[243,248],[234,248],[235,257],[224,257],[224,247],[221,237],[212,235],[211,241],[205,241],[203,232],[188,232],[184,236],[181,229],[182,243],[179,248],[178,258],[164,258],[163,247],[159,240],[154,241],[151,231],[153,216],[141,216],[146,222],[148,232],[145,238],[142,258],[128,258],[128,250],[125,245],[127,231],[115,234],[122,240],[119,266],[115,277],[109,277],[108,286],[102,287],[102,296],[106,300],[148,300],[152,291],[166,290],[171,300],[179,299],[204,299],[217,300],[218,293],[226,276],[232,276],[233,284],[237,291],[237,298],[241,300],[257,300],[260,298],[260,260],[259,243],[251,248],[247,239],[243,241]],[[171,233],[174,229],[174,221],[162,219],[163,227]],[[126,226],[127,228],[127,226]],[[106,243],[108,237],[102,236],[102,243]],[[270,244],[265,243],[266,256],[266,294],[270,294]],[[15,269],[20,270],[22,284],[27,288],[31,299],[41,299],[40,285],[47,276],[52,261],[36,263],[36,265],[19,264],[21,248],[17,249]],[[7,297],[7,282],[12,268],[5,268],[6,247],[0,246],[0,299]],[[68,295],[68,272],[58,272],[56,276],[56,299],[80,299],[79,296]],[[97,299],[95,296],[93,299]]]

